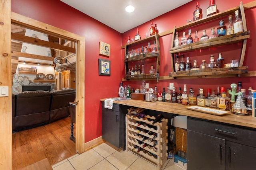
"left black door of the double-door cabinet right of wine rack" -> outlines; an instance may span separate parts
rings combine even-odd
[[[188,170],[224,170],[225,140],[187,131]]]

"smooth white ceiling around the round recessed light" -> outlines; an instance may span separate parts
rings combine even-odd
[[[88,16],[124,33],[142,23],[150,21],[166,12],[192,0],[61,0]],[[134,12],[125,7],[132,5]]]

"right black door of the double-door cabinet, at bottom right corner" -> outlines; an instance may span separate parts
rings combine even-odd
[[[256,148],[226,141],[226,170],[255,169]]]

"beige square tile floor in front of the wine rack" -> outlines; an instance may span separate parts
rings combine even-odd
[[[157,170],[157,166],[131,151],[117,151],[102,143],[52,166],[53,170]],[[162,170],[182,170],[168,159]]]

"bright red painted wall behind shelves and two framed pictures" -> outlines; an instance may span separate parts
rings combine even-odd
[[[246,4],[252,0],[244,0]],[[203,17],[206,16],[206,8],[209,5],[209,0],[199,0],[200,8],[203,9]],[[235,6],[238,6],[240,0],[215,0],[218,5],[218,11],[224,11]],[[189,2],[184,6],[181,6],[175,10],[172,10],[162,16],[159,16],[152,21],[157,23],[159,33],[173,29],[174,25],[180,26],[186,23],[186,20],[193,18],[193,12],[196,7],[196,1]],[[59,0],[12,0],[12,11],[18,14],[33,18],[38,21],[65,29],[72,33],[85,37],[85,142],[91,141],[101,136],[101,102],[100,98],[109,98],[117,96],[118,85],[121,78],[124,76],[124,50],[121,50],[121,45],[124,45],[127,41],[127,36],[134,36],[136,34],[136,28],[131,29],[123,34],[118,33],[114,29],[107,27],[106,25],[94,20],[93,18],[75,10],[74,8],[60,2]],[[249,66],[249,70],[255,70],[256,60],[254,59],[255,53],[255,32],[256,29],[256,9],[246,10],[247,29],[250,30],[250,39],[248,39],[246,54],[244,59],[244,66]],[[225,23],[228,20],[225,19]],[[234,15],[233,15],[234,20]],[[149,32],[150,22],[148,21],[142,25],[139,25],[140,35],[144,38],[144,35]],[[209,35],[209,28],[212,26],[218,26],[218,20],[216,23],[203,25],[207,29]],[[202,29],[193,28],[192,36],[194,36],[194,29],[198,29],[199,37],[202,35]],[[181,36],[181,33],[179,34]],[[160,76],[168,76],[172,69],[170,64],[170,53],[172,34],[164,37],[160,37],[161,59],[160,59]],[[106,42],[111,45],[111,56],[103,57],[98,55],[98,43],[99,41]],[[253,45],[254,44],[254,45]],[[237,50],[240,45],[234,45],[234,47],[221,47],[211,49],[212,53],[217,57],[218,53],[222,53],[223,57],[229,59],[232,57],[239,57],[240,51]],[[228,52],[226,52],[228,51]],[[238,52],[239,51],[239,52]],[[188,53],[187,57],[195,56],[194,53]],[[202,59],[209,61],[210,54],[207,50],[196,52],[198,59],[198,65]],[[98,76],[98,59],[110,59],[111,61],[111,76]],[[192,61],[192,60],[191,60]],[[145,68],[147,71],[149,67]],[[147,81],[150,86],[158,86],[158,89],[166,87],[170,82],[174,83],[176,87],[183,87],[183,84],[188,84],[188,88],[194,88],[195,93],[198,93],[198,88],[204,88],[206,94],[206,88],[215,89],[217,86],[229,87],[231,83],[237,83],[242,81],[243,88],[248,89],[249,86],[253,86],[256,89],[255,77],[248,78],[207,78],[207,79],[183,79],[183,80],[160,80],[157,83],[155,80]],[[142,81],[129,81],[124,84],[131,84],[134,88],[139,88]]]

